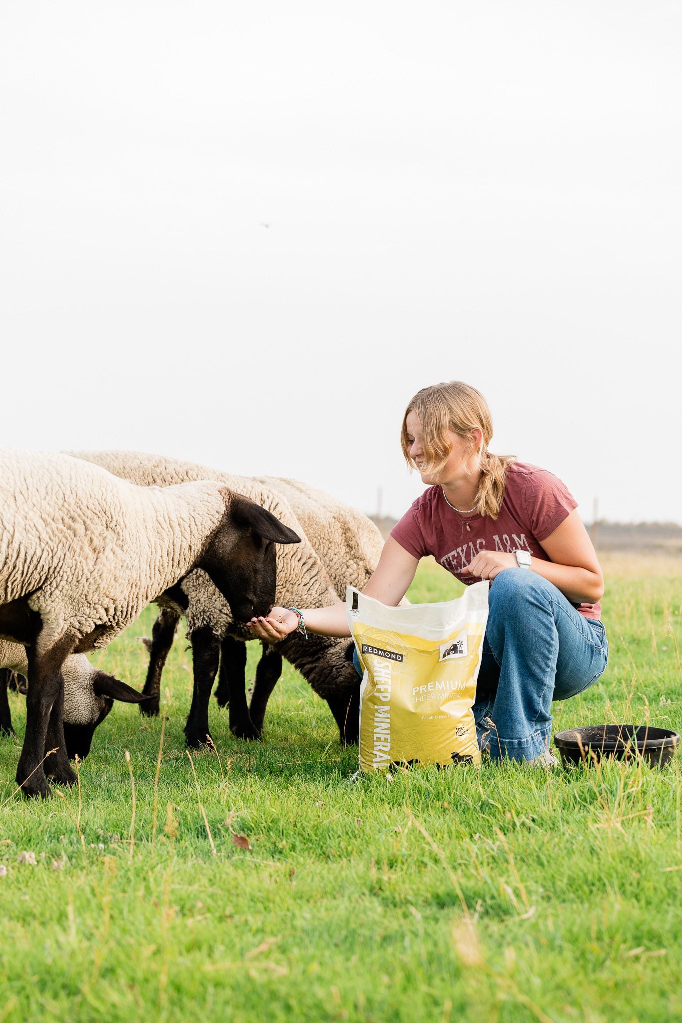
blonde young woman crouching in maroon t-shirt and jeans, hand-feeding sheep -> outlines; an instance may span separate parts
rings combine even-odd
[[[552,700],[582,693],[606,667],[603,577],[561,481],[491,454],[492,435],[488,404],[474,388],[455,381],[414,396],[401,443],[427,489],[392,530],[364,592],[399,604],[427,554],[465,584],[490,579],[473,707],[480,742],[493,759],[554,763]],[[310,632],[350,635],[345,604],[273,608],[251,627],[276,642],[303,620]]]

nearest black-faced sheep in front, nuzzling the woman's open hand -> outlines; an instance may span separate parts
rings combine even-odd
[[[64,454],[0,448],[0,638],[28,648],[16,781],[46,798],[74,784],[63,733],[64,659],[106,646],[192,569],[237,621],[275,595],[273,543],[293,530],[216,482],[136,487]]]

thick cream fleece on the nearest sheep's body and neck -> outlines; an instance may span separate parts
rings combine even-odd
[[[0,448],[0,605],[31,594],[42,650],[65,634],[105,647],[199,558],[230,498],[217,483],[137,487],[65,454]]]

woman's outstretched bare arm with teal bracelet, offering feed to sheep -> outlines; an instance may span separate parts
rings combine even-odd
[[[379,563],[374,569],[363,592],[381,604],[396,607],[405,596],[414,579],[419,560],[409,554],[397,540],[389,537],[383,544]],[[332,604],[328,608],[300,608],[309,632],[323,636],[350,636],[346,619],[346,604]],[[286,608],[273,608],[267,618],[252,618],[248,623],[254,635],[268,642],[277,642],[294,632],[299,617]]]

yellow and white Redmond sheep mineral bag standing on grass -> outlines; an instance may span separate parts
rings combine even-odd
[[[480,763],[471,707],[488,620],[488,583],[443,604],[389,608],[347,588],[364,668],[360,769],[392,763]]]

